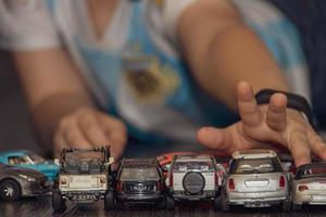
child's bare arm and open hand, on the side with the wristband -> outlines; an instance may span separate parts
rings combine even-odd
[[[211,95],[239,108],[242,119],[223,130],[200,130],[202,143],[231,152],[276,142],[291,151],[297,165],[310,162],[311,151],[326,158],[324,142],[299,112],[286,108],[285,95],[273,95],[269,106],[255,104],[253,94],[261,89],[289,88],[263,42],[243,25],[230,1],[195,2],[180,15],[176,33],[197,81]],[[241,80],[253,91],[246,82],[237,91]]]

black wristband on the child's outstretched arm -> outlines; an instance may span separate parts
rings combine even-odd
[[[305,98],[299,94],[285,92],[280,90],[263,89],[255,94],[256,103],[269,104],[271,97],[277,92],[280,92],[288,98],[287,107],[294,108],[298,110],[299,112],[302,112],[305,115],[308,122],[313,126],[313,113],[312,113],[311,105],[305,100]]]

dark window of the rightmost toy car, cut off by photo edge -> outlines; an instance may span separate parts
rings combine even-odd
[[[326,177],[326,163],[306,164],[297,169],[296,179]]]

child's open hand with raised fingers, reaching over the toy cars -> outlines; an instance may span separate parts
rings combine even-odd
[[[212,149],[236,150],[266,149],[267,144],[281,144],[289,149],[296,165],[311,162],[311,152],[326,159],[326,144],[302,115],[287,108],[287,98],[276,93],[269,105],[256,105],[249,84],[238,86],[238,107],[241,120],[225,128],[204,127],[199,130],[199,141]]]

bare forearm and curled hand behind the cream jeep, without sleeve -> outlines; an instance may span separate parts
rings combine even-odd
[[[124,124],[96,108],[62,48],[21,51],[13,56],[37,129],[45,143],[54,144],[54,154],[64,146],[104,144],[114,144],[113,155],[122,154]]]

